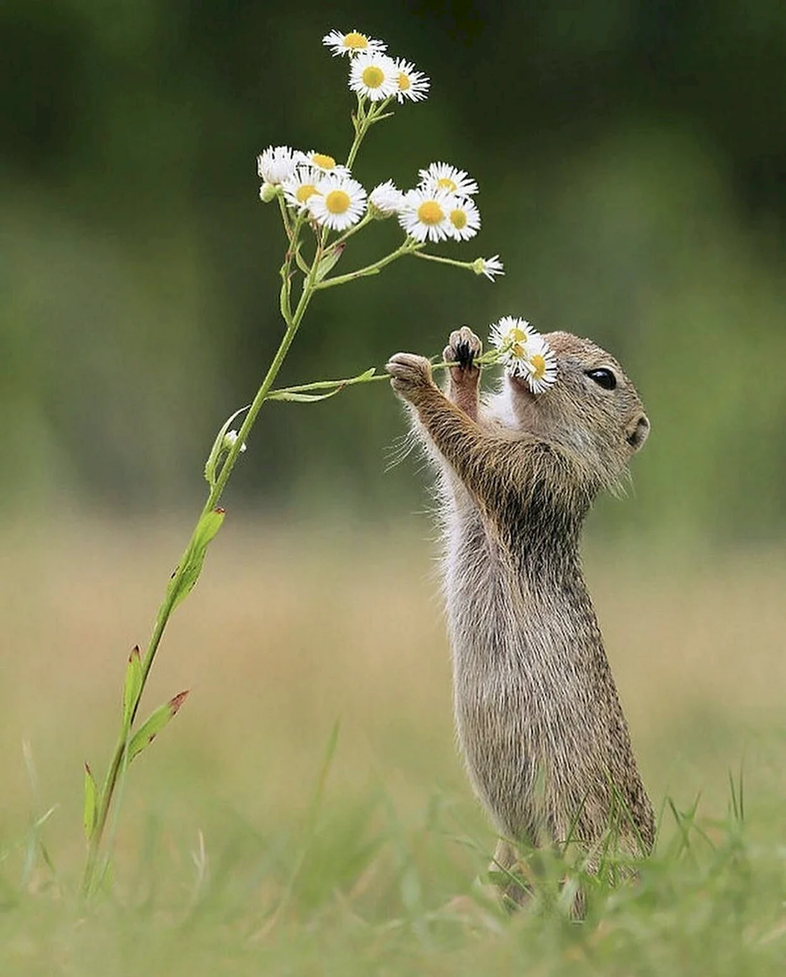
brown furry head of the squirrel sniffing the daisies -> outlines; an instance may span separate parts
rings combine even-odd
[[[525,379],[506,372],[511,419],[557,444],[592,482],[613,488],[649,434],[639,394],[620,364],[591,340],[569,332],[544,338],[557,359],[557,381],[533,394]]]

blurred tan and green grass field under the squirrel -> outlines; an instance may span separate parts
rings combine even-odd
[[[418,530],[228,521],[146,704],[191,696],[129,773],[113,876],[87,907],[81,765],[103,772],[128,649],[145,639],[183,533],[7,532],[4,977],[782,972],[786,561],[591,548],[663,813],[638,884],[593,887],[576,924],[569,863],[545,857],[536,898],[511,918],[480,884],[494,836],[453,744]]]

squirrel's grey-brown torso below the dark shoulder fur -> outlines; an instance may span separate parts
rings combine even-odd
[[[544,572],[503,550],[464,502],[446,514],[444,595],[456,731],[479,799],[509,838],[564,838],[579,815],[597,838],[613,783],[637,844],[651,845],[651,807],[580,568],[556,558]]]

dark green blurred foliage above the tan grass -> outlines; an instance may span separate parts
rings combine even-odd
[[[592,335],[653,425],[636,509],[599,525],[783,529],[786,8],[588,0],[367,5],[6,0],[0,7],[0,408],[14,488],[171,506],[277,344],[270,143],[340,156],[357,25],[433,79],[372,133],[366,186],[446,159],[480,183],[491,285],[401,264],[310,310],[282,381],[357,372],[506,313]],[[378,229],[380,249],[395,230]],[[352,267],[352,252],[345,257]],[[767,369],[767,366],[770,366]],[[385,385],[269,404],[234,491],[371,512],[418,504]],[[6,498],[18,501],[8,487]],[[69,501],[72,500],[72,501]],[[335,500],[335,502],[333,501]],[[400,504],[400,502],[398,503]]]

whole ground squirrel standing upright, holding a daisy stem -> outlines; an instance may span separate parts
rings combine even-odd
[[[643,854],[655,833],[579,557],[593,498],[620,485],[649,421],[595,343],[545,338],[558,378],[538,395],[506,371],[481,402],[466,326],[443,354],[460,364],[447,396],[424,357],[387,366],[439,475],[456,728],[506,870],[511,841],[592,851],[616,816],[623,850]]]

